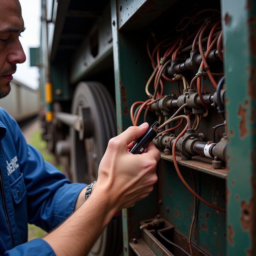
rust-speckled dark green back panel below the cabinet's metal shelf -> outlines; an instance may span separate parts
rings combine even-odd
[[[188,185],[193,186],[189,169],[179,167]],[[212,204],[225,208],[226,180],[197,170],[193,170],[193,173],[197,193]],[[194,197],[180,181],[173,163],[162,159],[157,174],[159,214],[175,226],[175,231],[188,239]],[[226,255],[226,214],[197,202],[192,242],[210,255]]]

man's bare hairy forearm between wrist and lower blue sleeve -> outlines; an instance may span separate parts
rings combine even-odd
[[[86,202],[44,240],[56,255],[87,255],[118,208],[104,189],[94,191]],[[93,223],[93,224],[92,224]]]

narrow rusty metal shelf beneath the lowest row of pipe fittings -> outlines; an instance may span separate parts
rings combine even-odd
[[[164,152],[161,152],[161,158],[173,162],[172,155],[164,155]],[[176,160],[177,163],[200,172],[208,173],[210,175],[226,179],[227,178],[227,169],[214,169],[211,165],[211,158],[203,157],[203,156],[194,156],[192,160],[185,161],[181,160],[180,153],[176,151]]]

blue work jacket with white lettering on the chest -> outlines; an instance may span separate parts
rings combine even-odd
[[[73,183],[26,143],[16,121],[0,108],[0,255],[55,255],[27,223],[50,231],[73,211],[86,184]],[[3,196],[4,195],[4,196]]]

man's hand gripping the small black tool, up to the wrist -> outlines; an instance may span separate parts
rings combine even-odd
[[[118,205],[119,210],[148,196],[157,181],[155,170],[160,152],[155,145],[151,143],[140,155],[128,151],[133,141],[147,129],[148,123],[131,126],[112,138],[100,162],[95,190],[105,188],[109,191],[111,202]]]

